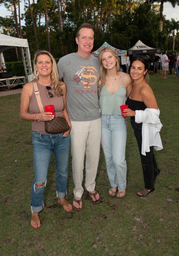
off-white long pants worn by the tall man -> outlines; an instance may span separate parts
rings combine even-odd
[[[101,118],[92,121],[70,121],[70,140],[72,154],[72,171],[75,197],[82,197],[84,155],[86,154],[85,188],[91,192],[95,190],[95,178],[98,169],[101,144]]]

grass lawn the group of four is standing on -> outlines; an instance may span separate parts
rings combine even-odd
[[[52,156],[41,228],[30,227],[30,188],[34,178],[31,124],[19,118],[20,94],[0,97],[0,255],[179,255],[178,100],[179,79],[175,74],[162,80],[150,74],[163,124],[163,150],[155,152],[161,169],[155,191],[144,198],[142,167],[133,130],[127,119],[127,195],[107,195],[109,180],[101,149],[96,188],[102,202],[91,203],[83,194],[83,210],[66,213],[57,205]],[[120,152],[119,152],[120,153]],[[84,171],[85,174],[85,171]],[[69,160],[68,195],[72,202],[73,180]]]

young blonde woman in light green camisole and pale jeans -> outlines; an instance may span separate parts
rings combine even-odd
[[[111,188],[108,195],[126,196],[126,120],[120,106],[132,90],[131,78],[121,72],[119,57],[115,51],[105,47],[99,53],[100,81],[99,104],[102,113],[101,145],[104,151],[107,174]]]

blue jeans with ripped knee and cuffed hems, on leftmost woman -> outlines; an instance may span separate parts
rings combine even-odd
[[[40,212],[44,206],[44,189],[52,152],[55,157],[57,197],[64,198],[67,192],[70,134],[67,137],[63,137],[63,133],[41,134],[33,131],[32,144],[35,179],[31,187],[30,206],[32,212]],[[41,187],[37,187],[36,183],[44,184]]]

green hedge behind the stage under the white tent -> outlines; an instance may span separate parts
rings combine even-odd
[[[58,59],[55,59],[58,62]],[[31,61],[33,69],[33,61]],[[12,61],[6,62],[7,71],[11,72],[13,76],[25,76],[24,64],[23,61]]]

